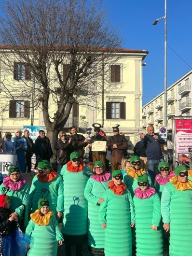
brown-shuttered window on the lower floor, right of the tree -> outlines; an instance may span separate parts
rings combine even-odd
[[[126,119],[125,102],[106,102],[107,119]]]

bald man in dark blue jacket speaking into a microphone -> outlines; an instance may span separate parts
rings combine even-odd
[[[164,161],[164,156],[161,150],[161,144],[164,143],[165,140],[162,139],[159,134],[154,133],[154,127],[151,125],[147,128],[147,134],[141,135],[140,145],[146,148],[148,171],[153,184],[155,180],[155,169],[159,162]]]

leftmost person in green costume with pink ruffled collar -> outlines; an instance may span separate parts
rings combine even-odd
[[[12,200],[11,215],[18,217],[20,227],[24,231],[28,224],[29,187],[16,165],[9,168],[8,175],[0,185],[0,194],[5,193]]]

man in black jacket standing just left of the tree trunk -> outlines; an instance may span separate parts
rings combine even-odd
[[[37,137],[34,145],[36,160],[37,162],[40,160],[50,161],[51,157],[53,156],[50,140],[45,136],[45,132],[43,130],[40,130],[39,134],[40,136]]]

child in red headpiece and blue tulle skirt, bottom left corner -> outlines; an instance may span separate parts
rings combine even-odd
[[[18,230],[18,218],[11,215],[11,199],[0,195],[0,255],[25,256],[29,239]]]

